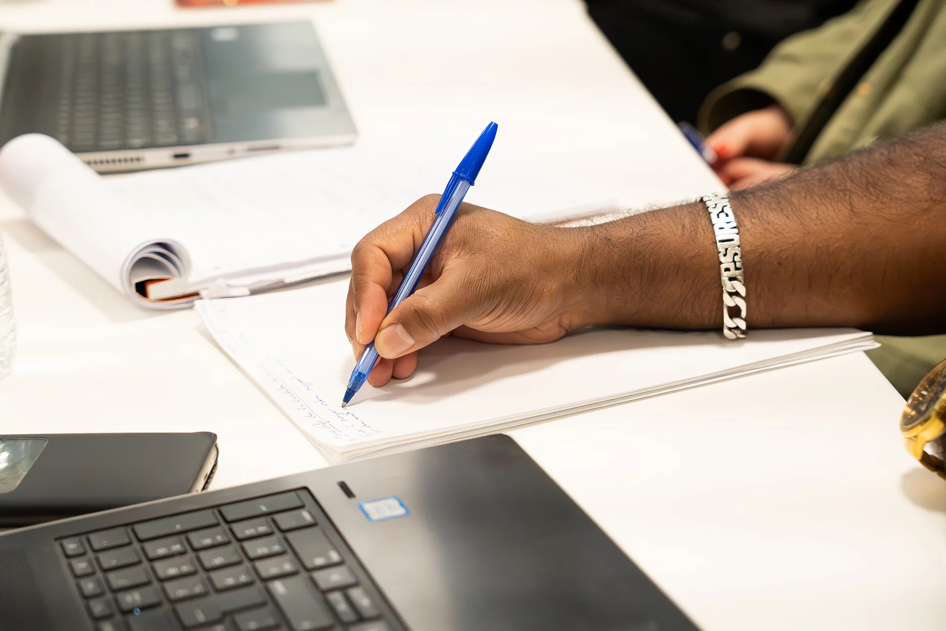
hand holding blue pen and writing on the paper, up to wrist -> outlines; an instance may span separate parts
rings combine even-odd
[[[390,314],[389,298],[427,234],[439,196],[414,202],[352,252],[345,332],[359,357],[375,341],[374,386],[411,376],[418,349],[453,333],[482,342],[552,342],[591,324],[573,230],[464,203],[418,289]]]

